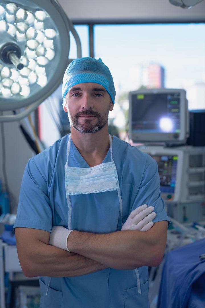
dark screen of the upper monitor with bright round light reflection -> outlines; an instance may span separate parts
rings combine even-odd
[[[180,93],[133,95],[132,130],[179,133]]]

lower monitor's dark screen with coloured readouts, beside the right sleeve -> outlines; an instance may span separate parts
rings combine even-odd
[[[178,155],[152,155],[158,164],[160,190],[162,193],[174,193]]]

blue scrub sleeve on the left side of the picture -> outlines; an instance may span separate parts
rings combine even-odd
[[[19,196],[16,227],[52,229],[52,210],[45,177],[31,158],[26,165]]]

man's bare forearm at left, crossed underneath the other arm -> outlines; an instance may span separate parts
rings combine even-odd
[[[18,255],[27,277],[74,277],[106,268],[97,261],[41,242],[32,253]]]

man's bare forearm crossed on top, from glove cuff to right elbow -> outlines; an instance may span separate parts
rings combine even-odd
[[[130,270],[160,263],[166,238],[163,242],[157,239],[160,239],[160,233],[155,233],[154,226],[146,232],[134,230],[93,234],[73,231],[67,245],[69,250],[107,267]]]

